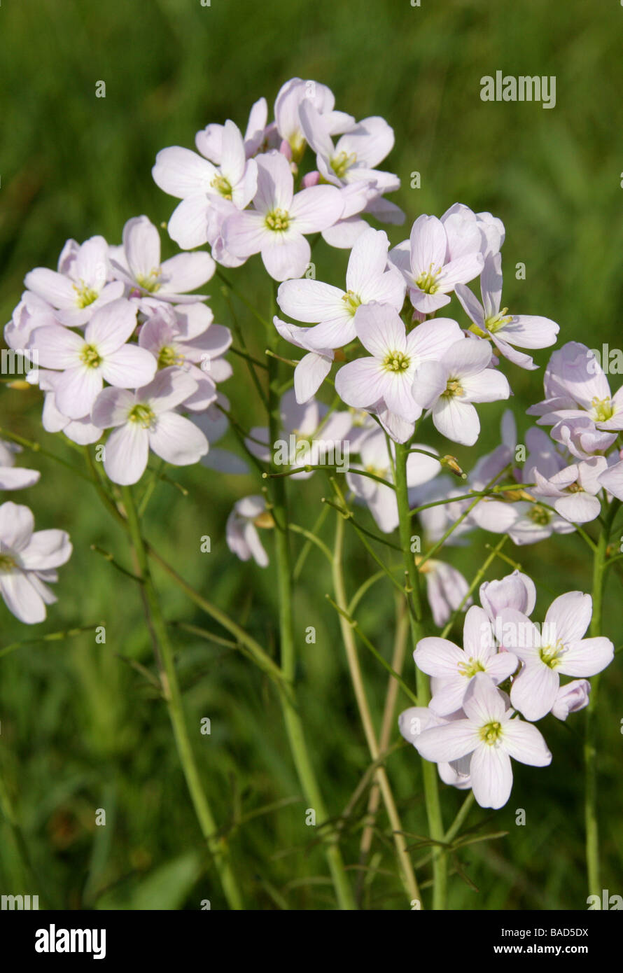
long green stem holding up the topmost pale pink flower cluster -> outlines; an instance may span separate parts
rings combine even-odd
[[[278,365],[274,357],[269,357],[269,426],[270,442],[279,438],[279,400],[277,392]],[[303,721],[297,706],[294,675],[296,668],[296,647],[294,642],[292,617],[292,566],[290,561],[290,542],[288,532],[288,512],[285,480],[275,478],[271,481],[272,513],[275,520],[275,560],[277,574],[277,595],[279,601],[279,643],[281,650],[281,674],[290,685],[290,692],[279,693],[283,721],[288,735],[296,772],[305,794],[308,807],[315,811],[316,823],[328,820],[324,799],[311,765],[311,759]],[[342,851],[337,844],[335,829],[327,834],[323,843],[327,863],[340,909],[355,910],[356,905],[348,876],[344,867]]]

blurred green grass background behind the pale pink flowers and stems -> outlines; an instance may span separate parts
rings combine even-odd
[[[2,319],[9,319],[18,302],[24,273],[54,267],[68,237],[104,234],[118,242],[130,216],[146,213],[157,223],[168,218],[173,200],[150,174],[159,149],[192,147],[195,132],[211,121],[233,118],[243,127],[252,101],[264,94],[272,104],[282,82],[298,75],[329,85],[337,106],[357,118],[379,114],[394,127],[396,146],[387,167],[403,180],[398,201],[409,225],[421,212],[440,215],[456,200],[491,210],[507,231],[504,303],[554,318],[562,341],[618,347],[622,39],[623,8],[615,0],[599,5],[421,0],[420,8],[408,0],[275,0],[270,5],[212,0],[207,8],[200,0],[5,0],[0,8]],[[555,75],[556,107],[482,102],[480,78],[496,69]],[[95,84],[102,80],[105,99],[95,97]],[[412,190],[410,175],[416,170],[421,189]],[[406,235],[400,228],[389,233],[392,242]],[[167,255],[173,252],[165,234],[164,248]],[[513,272],[520,261],[526,264],[525,281]],[[321,253],[318,247],[322,279],[339,283],[345,264],[344,253],[327,248]],[[267,308],[268,280],[258,260],[236,276],[250,300]],[[216,319],[229,323],[217,282],[209,289]],[[264,337],[254,319],[241,315],[240,322],[249,344],[261,353]],[[536,360],[544,365],[547,356],[538,352]],[[529,425],[525,409],[541,397],[542,373],[513,369],[507,374],[521,438]],[[617,378],[612,380],[616,387]],[[243,421],[259,421],[257,401],[238,363],[235,378],[223,387],[239,403]],[[495,446],[502,411],[502,404],[481,408],[481,450]],[[0,416],[14,432],[77,460],[60,438],[41,430],[36,390],[5,388]],[[466,468],[474,455],[459,452]],[[42,480],[12,498],[33,508],[39,527],[67,528],[75,544],[55,588],[58,603],[36,632],[103,621],[107,637],[105,645],[86,635],[25,646],[0,660],[0,775],[38,876],[33,887],[20,864],[16,835],[2,819],[0,892],[39,892],[46,904],[64,909],[199,909],[204,899],[212,908],[223,907],[165,709],[130,666],[153,668],[139,595],[90,550],[97,544],[128,565],[121,531],[84,481],[43,456],[24,454],[22,462],[40,468]],[[224,478],[201,466],[175,471],[175,479],[189,495],[159,487],[147,518],[150,539],[276,654],[273,569],[241,564],[224,542],[234,499],[256,491],[257,483]],[[294,501],[300,523],[313,522],[325,489],[319,477],[300,487]],[[212,538],[209,555],[200,553],[203,534]],[[264,539],[270,548],[272,538],[264,534]],[[488,540],[476,535],[469,548],[451,555],[468,577],[486,557]],[[511,554],[536,580],[539,610],[554,595],[590,589],[590,559],[575,536]],[[374,569],[350,539],[350,593]],[[503,573],[498,563],[490,576]],[[184,595],[160,576],[158,582],[167,619],[213,628]],[[615,645],[623,642],[620,583],[612,572],[605,597],[605,633]],[[296,591],[300,691],[320,784],[331,813],[339,814],[368,756],[338,624],[324,598],[329,585],[323,562],[311,554]],[[2,605],[0,617],[3,644],[33,634]],[[388,657],[393,598],[385,583],[366,596],[359,619]],[[316,627],[315,645],[305,642],[310,625]],[[305,825],[306,804],[272,686],[233,651],[183,633],[175,633],[175,640],[202,775],[219,822],[232,829],[247,906],[270,910],[285,901],[290,908],[333,908],[324,858]],[[618,893],[623,891],[620,659],[602,680],[599,706],[603,884]],[[362,664],[380,716],[385,673],[367,655]],[[406,671],[413,680],[411,662]],[[211,720],[209,737],[199,734],[202,716]],[[468,827],[508,835],[460,853],[460,867],[474,887],[455,875],[452,908],[586,907],[583,722],[582,714],[572,716],[568,726],[548,717],[541,726],[554,754],[552,767],[515,765],[509,804],[495,814],[472,812]],[[421,835],[425,818],[417,755],[410,747],[399,749],[389,758],[388,771],[405,829]],[[458,792],[443,790],[448,823],[461,799]],[[275,802],[283,803],[237,827],[240,818]],[[106,827],[95,826],[98,808],[106,810]],[[515,824],[518,808],[526,811],[523,827]],[[350,864],[357,862],[359,841],[356,821],[352,826],[344,843]],[[405,908],[386,836],[381,813],[374,846],[380,872],[369,876],[365,902],[371,908]],[[426,878],[424,867],[421,881]]]

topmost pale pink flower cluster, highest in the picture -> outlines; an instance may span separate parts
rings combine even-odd
[[[168,222],[171,237],[185,250],[209,243],[224,267],[260,253],[271,276],[286,280],[307,270],[307,235],[351,247],[368,226],[363,213],[402,222],[402,212],[385,199],[400,180],[376,168],[393,146],[393,131],[384,119],[355,122],[334,105],[324,85],[293,78],[276,96],[273,122],[260,98],[244,135],[228,120],[197,133],[198,152],[163,149],[154,179],[181,200]],[[308,145],[317,167],[303,175]]]

